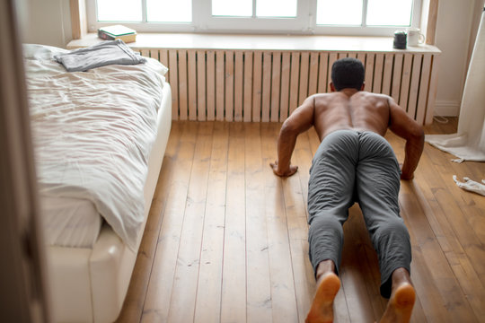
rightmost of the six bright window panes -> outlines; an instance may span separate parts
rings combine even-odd
[[[412,0],[368,0],[367,25],[410,26]]]

